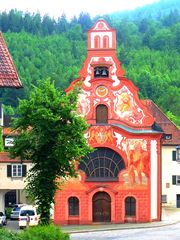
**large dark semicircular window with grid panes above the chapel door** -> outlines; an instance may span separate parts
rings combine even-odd
[[[97,148],[79,165],[79,169],[86,173],[86,181],[117,181],[124,168],[122,157],[110,148]]]

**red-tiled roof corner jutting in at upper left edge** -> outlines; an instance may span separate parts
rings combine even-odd
[[[0,32],[0,88],[21,88],[11,55]]]

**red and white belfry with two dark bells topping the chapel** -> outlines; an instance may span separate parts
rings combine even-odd
[[[103,78],[112,82],[112,87],[120,84],[124,70],[116,56],[116,31],[104,20],[98,20],[88,31],[87,58],[79,71],[85,87],[91,87],[93,79]]]

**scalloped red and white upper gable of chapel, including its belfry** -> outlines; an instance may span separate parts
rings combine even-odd
[[[109,33],[109,38],[106,38],[108,37],[106,32]],[[134,129],[151,129],[154,117],[142,104],[138,96],[138,88],[124,77],[124,70],[117,58],[115,43],[116,32],[104,20],[98,20],[88,31],[87,58],[79,71],[82,80],[79,112],[86,117],[88,123],[95,124],[96,107],[104,104],[108,107],[109,124],[122,124]],[[102,67],[107,69],[108,76],[96,77],[95,69]],[[77,80],[71,83],[67,92],[74,84],[77,84]],[[106,94],[103,95],[102,91]]]

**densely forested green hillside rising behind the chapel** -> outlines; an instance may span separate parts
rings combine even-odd
[[[117,31],[118,58],[126,76],[139,87],[141,98],[152,99],[180,125],[179,5],[165,8],[175,1],[162,0],[164,14],[161,11],[159,15],[160,3],[153,4],[155,17],[137,18],[133,11],[131,17],[116,14],[104,18]],[[55,21],[48,15],[42,18],[38,13],[16,10],[0,14],[0,29],[24,86],[1,90],[0,101],[7,112],[12,111],[10,106],[17,106],[17,98],[28,96],[31,84],[50,77],[57,87],[65,88],[78,76],[86,57],[86,32],[97,18],[81,13],[71,21],[64,15]]]

